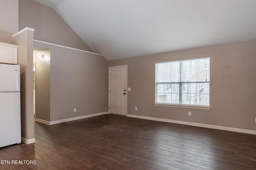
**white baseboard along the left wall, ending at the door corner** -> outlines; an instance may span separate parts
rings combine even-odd
[[[42,120],[42,119],[35,119],[35,121],[45,123],[47,125],[54,125],[54,124],[58,124],[58,123],[64,123],[64,122],[74,121],[74,120],[78,120],[78,119],[85,119],[85,118],[88,118],[88,117],[94,117],[94,116],[105,115],[105,114],[108,114],[108,111],[105,111],[105,112],[102,112],[102,113],[94,113],[94,114],[90,114],[90,115],[72,117],[72,118],[68,118],[68,119],[61,119],[61,120],[56,120],[56,121],[45,121],[45,120]]]

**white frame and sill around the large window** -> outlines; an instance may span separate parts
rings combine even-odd
[[[202,59],[202,58],[209,58],[210,57],[201,57],[201,58],[194,58],[194,59],[185,59],[185,60],[179,60],[179,61],[186,61],[186,60],[195,60],[195,59]],[[169,63],[169,62],[177,62],[177,61],[166,61],[166,62],[160,62],[160,63]],[[156,63],[158,64],[158,63]],[[155,64],[155,66],[156,66]],[[210,65],[209,65],[210,66]],[[155,67],[155,78],[157,76],[157,72],[156,72],[156,67]],[[165,83],[165,82],[164,82]],[[167,82],[168,83],[168,82]],[[180,86],[182,83],[186,83],[186,82],[179,82]],[[201,82],[193,82],[193,83],[201,83]],[[205,82],[204,82],[205,83]],[[206,83],[209,83],[209,88],[210,88],[210,80],[208,80]],[[172,104],[172,103],[166,103],[166,102],[156,102],[156,99],[157,99],[157,95],[158,95],[158,92],[157,92],[157,84],[161,84],[159,82],[156,82],[155,81],[155,103],[154,105],[155,106],[167,106],[167,107],[185,107],[185,108],[197,108],[197,109],[210,109],[210,103],[209,103],[209,106],[202,106],[202,105],[186,105],[186,104]],[[181,91],[180,91],[181,93]],[[164,94],[165,95],[165,94]],[[166,96],[161,96],[162,99],[165,99]],[[210,100],[210,92],[209,92],[209,100]]]

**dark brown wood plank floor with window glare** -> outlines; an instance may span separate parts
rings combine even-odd
[[[256,170],[256,135],[101,115],[35,122],[36,143],[0,149],[1,170]]]

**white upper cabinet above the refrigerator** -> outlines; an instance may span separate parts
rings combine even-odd
[[[0,42],[0,63],[18,64],[18,45]]]

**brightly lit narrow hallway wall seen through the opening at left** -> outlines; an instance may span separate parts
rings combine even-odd
[[[50,50],[36,53],[35,62],[36,119],[50,121]]]

